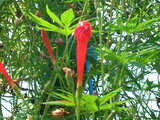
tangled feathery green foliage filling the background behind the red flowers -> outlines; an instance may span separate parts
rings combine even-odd
[[[159,6],[159,0],[0,0],[0,60],[37,120],[56,119],[51,115],[56,108],[69,112],[61,119],[75,119],[73,104],[56,101],[74,102],[61,69],[74,70],[76,83],[76,39],[71,33],[79,21],[87,20],[93,29],[88,48],[94,48],[92,54],[98,58],[89,59],[91,71],[84,74],[81,118],[159,119],[159,109],[150,106],[153,101],[157,107],[160,103]],[[47,10],[52,11],[62,25]],[[70,12],[64,16],[67,10]],[[60,68],[58,73],[42,41],[41,28],[45,28],[49,36]],[[58,45],[57,38],[65,44]],[[150,80],[148,75],[153,72],[157,76],[154,74]],[[94,96],[87,95],[90,77]],[[0,81],[1,101],[9,97],[11,100],[6,102],[12,106],[8,110],[12,116],[3,117],[2,108],[6,108],[1,103],[1,119],[27,119],[27,114],[31,113],[2,75],[0,79],[3,79]],[[43,104],[46,100],[49,102]]]

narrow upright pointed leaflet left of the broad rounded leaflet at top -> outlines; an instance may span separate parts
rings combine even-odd
[[[60,19],[53,12],[50,11],[48,5],[46,5],[46,11],[51,19],[53,19],[56,23],[58,23],[60,26],[62,26],[64,28],[63,23],[60,21]]]

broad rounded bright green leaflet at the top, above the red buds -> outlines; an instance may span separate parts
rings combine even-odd
[[[61,15],[61,21],[65,24],[68,25],[73,19],[75,18],[73,10],[68,9]]]

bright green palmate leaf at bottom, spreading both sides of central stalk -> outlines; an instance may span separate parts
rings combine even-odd
[[[100,99],[98,99],[98,96],[83,95],[81,98],[81,104],[80,104],[81,110],[92,111],[92,112],[97,112],[98,110],[105,110],[105,109],[130,110],[128,108],[119,107],[118,105],[124,104],[126,102],[131,101],[131,100],[114,102],[112,104],[106,104],[106,101],[108,101],[109,99],[114,97],[118,92],[120,92],[121,89],[122,88],[119,88],[115,91],[112,91]],[[56,97],[60,100],[49,101],[49,102],[45,102],[43,104],[75,107],[73,95],[67,91],[64,91],[64,90],[59,90],[59,91],[61,91],[63,93],[60,94],[60,93],[52,92],[51,94],[53,95],[53,97]],[[61,100],[61,99],[63,99],[63,100]]]

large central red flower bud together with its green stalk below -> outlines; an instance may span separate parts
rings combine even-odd
[[[74,35],[77,39],[77,90],[76,90],[76,117],[80,120],[80,100],[82,96],[82,83],[84,64],[87,53],[87,43],[91,38],[92,27],[89,22],[81,21],[75,28]]]

